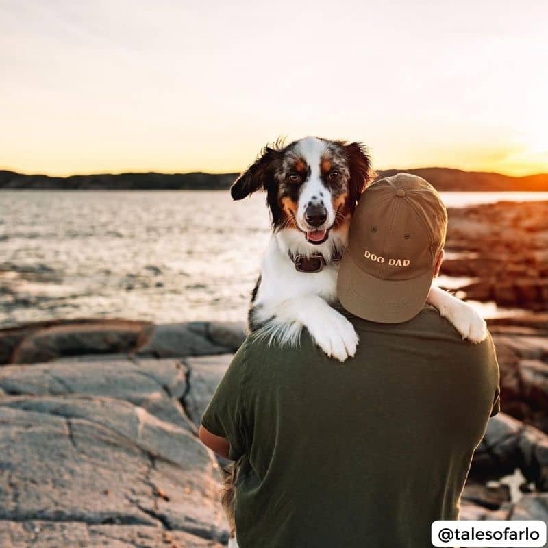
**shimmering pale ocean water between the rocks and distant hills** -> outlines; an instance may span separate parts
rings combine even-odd
[[[443,199],[462,207],[548,192]],[[0,327],[84,317],[243,321],[269,236],[263,195],[1,191]]]

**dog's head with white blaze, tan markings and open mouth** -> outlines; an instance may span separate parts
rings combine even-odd
[[[230,189],[235,200],[266,190],[275,229],[296,229],[313,245],[345,227],[369,182],[371,162],[358,142],[306,137],[266,147]]]

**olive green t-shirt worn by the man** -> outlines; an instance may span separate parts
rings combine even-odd
[[[425,548],[458,519],[472,454],[499,410],[493,342],[462,340],[425,306],[360,336],[344,364],[303,332],[297,348],[249,336],[202,424],[243,457],[240,548]]]

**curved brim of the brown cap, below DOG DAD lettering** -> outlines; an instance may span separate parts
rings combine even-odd
[[[412,279],[379,279],[358,268],[347,251],[340,261],[338,299],[354,316],[379,323],[401,323],[421,312],[433,278],[433,272],[426,272]]]

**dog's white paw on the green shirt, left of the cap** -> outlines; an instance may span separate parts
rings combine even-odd
[[[331,309],[332,310],[332,309]],[[345,316],[332,310],[329,318],[314,319],[306,325],[316,344],[331,358],[344,362],[356,354],[359,338]]]

